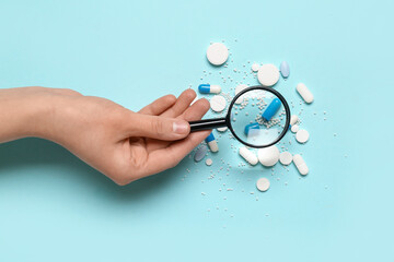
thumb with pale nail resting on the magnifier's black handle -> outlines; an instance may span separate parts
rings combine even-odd
[[[128,134],[130,136],[144,136],[165,141],[184,139],[189,132],[190,126],[183,119],[137,112],[132,112],[128,127]]]

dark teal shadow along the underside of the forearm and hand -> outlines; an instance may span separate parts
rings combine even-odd
[[[141,199],[175,179],[174,171],[166,170],[120,187],[62,146],[42,139],[30,138],[1,144],[0,159],[0,183],[7,176],[21,179],[15,172],[18,174],[21,170],[21,175],[25,175],[26,170],[31,169],[31,175],[37,176],[37,179],[48,179],[48,176],[67,176],[61,180],[67,179],[78,184],[83,183],[86,189],[99,191],[108,198],[115,198],[116,201],[130,202]],[[43,167],[44,170],[47,168],[54,171],[50,174],[44,171],[44,174],[37,175],[37,168]]]

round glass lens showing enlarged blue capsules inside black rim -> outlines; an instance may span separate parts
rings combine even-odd
[[[258,147],[276,142],[290,118],[279,97],[264,90],[251,90],[241,95],[230,109],[230,116],[234,134]]]

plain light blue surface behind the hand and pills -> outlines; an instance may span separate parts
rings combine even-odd
[[[2,144],[0,261],[390,260],[393,9],[391,0],[2,0],[0,87],[70,87],[137,110],[219,71],[205,51],[224,39],[228,72],[286,60],[291,74],[276,88],[296,112],[297,83],[315,100],[301,115],[310,141],[287,136],[310,167],[301,179],[293,165],[278,164],[275,176],[239,167],[224,135],[211,167],[185,159],[128,187],[50,142]],[[217,172],[221,158],[233,163],[229,176]],[[265,193],[260,177],[271,180]]]

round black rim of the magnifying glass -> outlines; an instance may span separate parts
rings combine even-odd
[[[286,110],[286,123],[285,123],[285,128],[283,128],[283,131],[280,133],[280,135],[274,140],[274,142],[269,143],[269,144],[266,144],[266,145],[254,145],[254,144],[250,144],[245,141],[243,141],[242,139],[240,139],[240,136],[236,135],[235,131],[233,130],[232,128],[232,124],[231,124],[231,110],[234,106],[234,103],[235,100],[242,96],[243,94],[245,94],[246,92],[250,92],[250,91],[253,91],[253,90],[264,90],[264,91],[267,91],[267,92],[270,92],[273,93],[274,95],[276,95],[280,102],[283,104],[285,106],[285,110]],[[254,148],[264,148],[264,147],[268,147],[268,146],[271,146],[271,145],[275,145],[276,143],[278,143],[287,133],[287,131],[289,130],[289,127],[290,127],[290,107],[289,107],[289,104],[287,103],[287,100],[285,99],[285,97],[279,93],[277,92],[276,90],[271,88],[271,87],[266,87],[266,86],[263,86],[263,85],[254,85],[254,86],[251,86],[251,87],[247,87],[243,91],[241,91],[240,93],[237,93],[235,95],[235,97],[232,99],[232,102],[230,103],[230,106],[229,106],[229,111],[225,116],[225,122],[227,122],[227,126],[228,128],[230,129],[231,133],[235,136],[235,139],[237,139],[237,141],[240,141],[241,143],[243,143],[244,145],[247,145],[247,146],[251,146],[251,147],[254,147]]]

